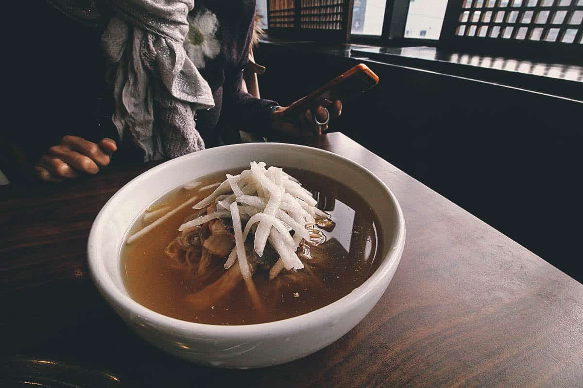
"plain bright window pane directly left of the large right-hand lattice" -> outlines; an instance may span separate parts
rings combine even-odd
[[[483,3],[480,0],[476,2]],[[471,4],[472,0],[469,0],[469,3]],[[405,38],[439,39],[446,6],[447,0],[410,0]],[[479,18],[480,12],[477,12],[477,16],[474,13],[472,17]]]

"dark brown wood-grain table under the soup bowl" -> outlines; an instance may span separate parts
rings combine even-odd
[[[370,169],[394,191],[407,224],[387,292],[342,339],[248,371],[188,364],[138,339],[97,293],[85,255],[99,209],[152,166],[136,165],[0,187],[2,355],[65,360],[139,387],[583,384],[582,284],[346,136],[307,144]]]

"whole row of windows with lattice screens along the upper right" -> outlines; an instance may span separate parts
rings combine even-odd
[[[357,44],[403,47],[439,40],[440,47],[568,60],[578,60],[583,44],[583,0],[257,0],[257,10],[286,38],[352,36]]]

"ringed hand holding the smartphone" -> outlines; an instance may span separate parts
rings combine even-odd
[[[342,102],[337,99],[326,106],[319,105],[315,109],[308,109],[294,122],[282,118],[285,107],[273,111],[272,130],[287,136],[313,136],[328,130],[328,122],[342,113]]]

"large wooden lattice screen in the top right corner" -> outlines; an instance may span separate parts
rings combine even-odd
[[[583,55],[582,24],[583,0],[458,0],[448,3],[441,41],[577,58]]]

